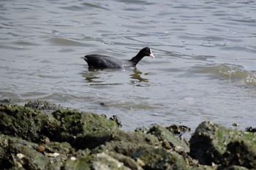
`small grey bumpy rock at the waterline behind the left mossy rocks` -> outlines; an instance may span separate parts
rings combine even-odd
[[[61,109],[61,106],[53,104],[49,101],[29,101],[27,104],[24,105],[24,107],[30,107],[32,109],[39,109],[39,110],[57,110]]]

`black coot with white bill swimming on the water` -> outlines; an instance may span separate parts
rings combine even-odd
[[[121,69],[124,67],[135,67],[137,63],[145,56],[154,58],[151,49],[148,47],[140,50],[138,55],[130,60],[120,60],[106,55],[86,55],[83,59],[88,63],[88,66],[94,69]]]

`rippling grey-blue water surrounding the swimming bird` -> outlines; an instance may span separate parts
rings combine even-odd
[[[0,98],[118,115],[123,128],[256,121],[255,1],[1,1]],[[137,69],[89,70],[80,57]]]

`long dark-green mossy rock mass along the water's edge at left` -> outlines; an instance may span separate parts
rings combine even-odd
[[[29,107],[0,104],[0,133],[31,142],[72,142],[79,135],[116,128],[116,121],[93,113],[60,109],[49,115]]]

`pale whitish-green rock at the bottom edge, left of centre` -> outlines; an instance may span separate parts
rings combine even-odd
[[[105,152],[88,155],[75,160],[69,159],[64,166],[64,170],[66,169],[129,170],[127,166],[124,166],[124,163],[117,161]]]

